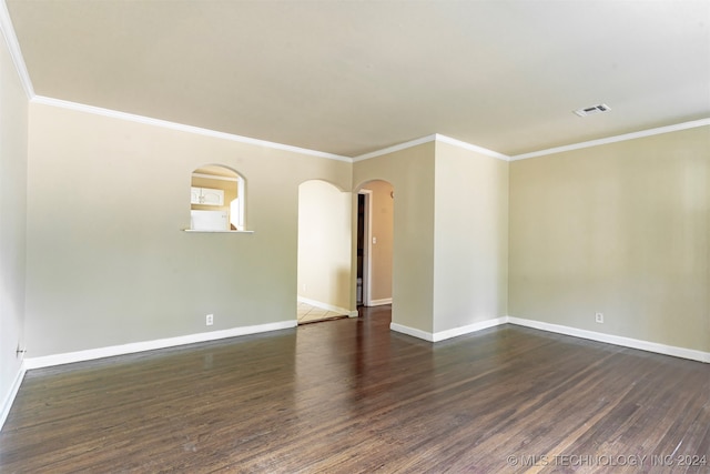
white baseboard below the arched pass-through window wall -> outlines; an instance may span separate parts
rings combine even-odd
[[[257,324],[253,326],[233,327],[222,331],[211,331],[196,334],[187,334],[178,337],[159,339],[154,341],[134,342],[130,344],[111,345],[108,347],[89,349],[87,351],[68,352],[63,354],[44,355],[41,357],[28,357],[24,360],[27,370],[49,367],[52,365],[70,364],[73,362],[91,361],[94,359],[111,357],[114,355],[133,354],[135,352],[153,351],[156,349],[173,347],[176,345],[194,344],[196,342],[216,341],[225,337],[256,334],[268,331],[296,327],[297,321],[280,321],[277,323]]]

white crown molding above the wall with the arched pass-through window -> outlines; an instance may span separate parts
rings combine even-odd
[[[235,135],[233,133],[217,132],[214,130],[202,129],[200,127],[185,125],[183,123],[169,122],[168,120],[152,119],[150,117],[136,115],[128,112],[119,112],[116,110],[103,109],[100,107],[87,105],[83,103],[70,102],[61,99],[52,99],[44,95],[34,95],[31,101],[32,103],[38,103],[42,105],[57,107],[60,109],[69,109],[78,112],[92,113],[95,115],[109,117],[112,119],[125,120],[129,122],[143,123],[148,125],[161,127],[170,130],[178,130],[187,133],[195,133],[199,135],[213,137],[222,140],[230,140],[240,143],[247,143],[257,147],[271,148],[274,150],[284,150],[291,151],[298,154],[306,154],[311,157],[317,158],[326,158],[328,160],[344,161],[347,163],[352,163],[353,160],[348,157],[342,157],[339,154],[326,153],[317,150],[308,150],[305,148],[292,147],[283,143],[275,143],[265,140],[252,139],[248,137]]]

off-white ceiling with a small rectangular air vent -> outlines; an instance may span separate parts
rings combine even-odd
[[[344,157],[433,133],[516,155],[710,117],[708,0],[7,6],[38,95]]]

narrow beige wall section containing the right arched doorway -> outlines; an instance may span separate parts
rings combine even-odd
[[[353,164],[354,189],[373,180],[392,183],[395,193],[392,322],[430,333],[434,304],[434,142]],[[356,214],[355,200],[353,210]],[[352,228],[356,232],[356,222]]]

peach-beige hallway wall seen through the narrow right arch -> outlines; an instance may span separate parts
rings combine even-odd
[[[382,180],[369,181],[362,189],[369,190],[371,244],[369,300],[373,303],[392,300],[392,254],[394,248],[394,188]]]

